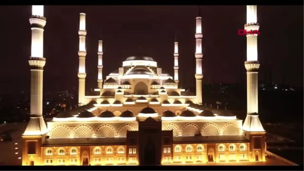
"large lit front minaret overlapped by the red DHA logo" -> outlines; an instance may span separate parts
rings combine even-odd
[[[247,24],[245,30],[259,30],[257,23],[257,6],[247,5]],[[257,61],[257,34],[247,33],[247,61],[245,68],[247,70],[247,117],[245,119],[243,130],[246,131],[264,131],[258,113],[258,69],[260,67]]]

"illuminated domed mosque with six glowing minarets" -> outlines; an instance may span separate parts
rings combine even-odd
[[[258,117],[257,34],[247,35],[247,117],[202,105],[202,22],[196,17],[196,92],[178,86],[178,42],[172,44],[174,76],[157,61],[130,56],[103,80],[98,42],[98,96],[85,95],[85,13],[79,26],[79,107],[42,117],[43,5],[33,5],[30,121],[22,165],[165,165],[264,162],[265,131]],[[258,30],[256,5],[247,5],[245,30]],[[208,40],[206,40],[208,41]],[[97,42],[96,42],[97,44]],[[96,56],[97,56],[96,55]],[[106,55],[106,54],[105,54]],[[195,66],[193,66],[195,67]],[[169,68],[166,68],[169,69]]]

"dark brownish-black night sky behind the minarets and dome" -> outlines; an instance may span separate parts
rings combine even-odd
[[[0,6],[0,92],[29,91],[31,6]],[[259,81],[302,87],[303,6],[257,6]],[[44,91],[78,88],[79,13],[86,15],[86,89],[97,86],[97,49],[102,29],[103,78],[139,52],[173,76],[178,32],[179,80],[195,86],[195,17],[198,6],[45,6]],[[204,83],[245,83],[246,6],[201,6]],[[140,46],[140,48],[139,48]],[[271,75],[271,76],[270,76]]]

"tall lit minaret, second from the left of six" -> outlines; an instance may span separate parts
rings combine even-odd
[[[85,30],[85,13],[80,13],[80,22],[79,22],[79,70],[78,70],[78,78],[79,78],[79,87],[78,87],[78,105],[84,105],[85,99],[85,56],[87,55],[87,51],[85,48],[85,36],[87,35],[87,31]]]

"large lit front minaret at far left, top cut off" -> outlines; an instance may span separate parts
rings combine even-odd
[[[32,5],[32,16],[29,19],[32,30],[31,57],[29,66],[31,69],[31,96],[30,96],[30,120],[24,131],[27,135],[43,135],[47,133],[47,127],[42,116],[43,96],[43,28],[47,20],[43,17],[43,5]]]

